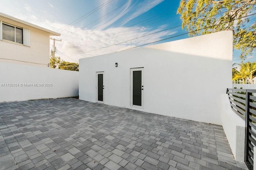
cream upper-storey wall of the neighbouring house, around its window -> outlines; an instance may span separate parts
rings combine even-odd
[[[0,20],[30,29],[30,47],[4,39],[0,41],[0,62],[48,67],[50,60],[50,33],[1,16]]]

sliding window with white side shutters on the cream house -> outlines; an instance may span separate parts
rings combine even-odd
[[[30,30],[0,21],[0,40],[30,46]]]

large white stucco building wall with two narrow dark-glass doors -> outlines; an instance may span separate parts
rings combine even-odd
[[[130,68],[144,67],[144,109],[139,110],[221,125],[222,94],[232,86],[232,31],[80,59],[79,64],[81,100],[96,102],[96,72],[104,71],[104,104],[132,108]]]

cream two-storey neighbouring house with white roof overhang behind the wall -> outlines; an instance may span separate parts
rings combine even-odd
[[[60,33],[0,13],[0,62],[48,67],[50,36]]]

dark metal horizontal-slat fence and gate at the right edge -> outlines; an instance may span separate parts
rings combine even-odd
[[[249,169],[253,169],[254,147],[256,147],[256,90],[227,89],[232,110],[245,120],[245,158]]]

